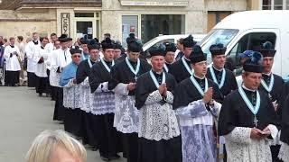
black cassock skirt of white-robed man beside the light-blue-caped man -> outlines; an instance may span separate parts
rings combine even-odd
[[[56,87],[56,100],[54,105],[53,121],[64,121],[65,108],[63,106],[63,88]]]

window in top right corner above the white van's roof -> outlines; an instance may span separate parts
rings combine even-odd
[[[263,10],[288,10],[289,0],[263,0],[262,9]]]

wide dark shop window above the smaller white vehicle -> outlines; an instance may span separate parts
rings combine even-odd
[[[184,14],[142,14],[141,34],[143,43],[159,35],[183,34]]]

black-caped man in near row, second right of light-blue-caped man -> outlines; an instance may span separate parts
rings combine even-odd
[[[101,42],[103,58],[91,67],[89,85],[92,93],[91,109],[98,123],[97,139],[100,157],[105,160],[119,158],[117,155],[117,130],[113,127],[115,94],[108,90],[111,81],[110,69],[115,65],[114,44],[106,38]]]

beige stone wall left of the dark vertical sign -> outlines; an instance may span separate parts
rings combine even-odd
[[[41,36],[56,32],[56,12],[52,9],[34,11],[0,10],[0,35],[5,38],[22,35],[32,37],[37,31]]]

